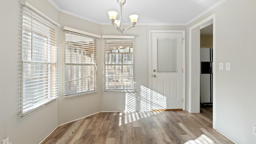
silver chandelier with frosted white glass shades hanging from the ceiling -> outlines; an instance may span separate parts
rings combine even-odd
[[[132,27],[135,27],[135,24],[137,23],[137,19],[138,19],[137,14],[132,14],[129,16],[132,25],[128,26],[128,28],[125,28],[125,29],[122,27],[122,14],[123,14],[125,2],[126,2],[126,0],[117,0],[117,3],[120,5],[120,12],[121,12],[119,20],[116,20],[116,16],[118,14],[116,11],[108,12],[111,24],[113,24],[116,27],[116,30],[118,30],[118,32],[121,32],[121,33],[123,33],[124,30],[128,30]]]

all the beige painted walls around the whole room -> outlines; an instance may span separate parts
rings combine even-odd
[[[99,35],[121,35],[111,25],[98,25],[58,12],[46,0],[28,0],[47,16],[68,26]],[[56,102],[19,120],[19,0],[4,0],[0,6],[0,60],[2,60],[0,86],[0,140],[9,136],[13,144],[36,144],[58,124],[63,124],[99,111],[150,110],[149,87],[149,31],[186,30],[186,109],[188,108],[189,28],[216,13],[216,63],[231,62],[231,70],[216,71],[216,129],[239,144],[252,144],[252,125],[256,125],[256,1],[226,0],[188,26],[136,26],[123,35],[136,37],[136,92],[103,92],[102,57],[99,58],[99,92],[63,99],[64,82],[60,78],[60,97]],[[4,23],[5,22],[5,23]],[[198,38],[199,39],[199,38]],[[99,53],[103,56],[102,40]],[[193,50],[192,50],[193,51]],[[60,55],[62,31],[60,30]],[[9,54],[9,55],[7,55]],[[60,77],[64,76],[63,57],[60,57]],[[193,75],[192,75],[193,76]]]

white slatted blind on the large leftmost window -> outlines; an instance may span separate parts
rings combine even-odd
[[[21,8],[20,117],[22,118],[58,97],[59,26],[32,8],[25,6]]]

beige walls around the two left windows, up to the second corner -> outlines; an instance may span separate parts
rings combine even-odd
[[[100,25],[63,14],[47,0],[27,0],[32,6],[61,25],[59,74],[64,76],[62,27],[69,26],[100,34]],[[20,0],[4,0],[0,6],[1,23],[0,59],[2,62],[0,86],[0,140],[10,138],[12,144],[37,144],[56,126],[100,111],[100,92],[87,96],[63,99],[64,84],[60,78],[59,98],[37,112],[19,120],[20,72]],[[9,54],[9,55],[8,55]]]

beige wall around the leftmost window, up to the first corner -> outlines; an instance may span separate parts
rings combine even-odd
[[[46,0],[28,2],[58,22]],[[0,142],[9,136],[13,144],[36,144],[58,126],[58,100],[19,119],[20,0],[2,0],[0,18]]]

